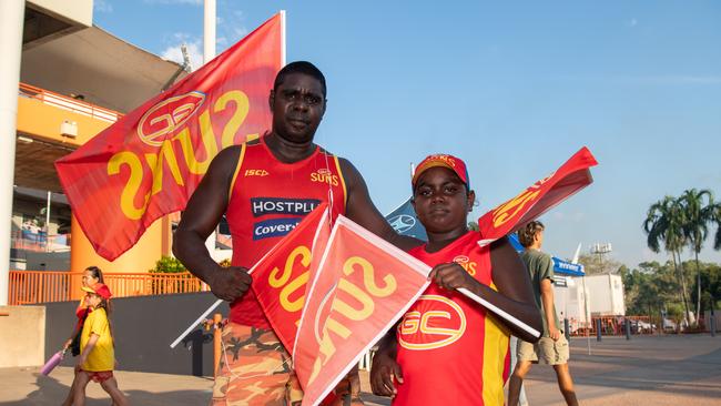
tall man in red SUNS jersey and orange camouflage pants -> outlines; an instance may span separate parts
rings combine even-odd
[[[258,140],[230,146],[210,169],[179,224],[173,253],[213,294],[231,302],[223,328],[213,402],[217,405],[294,405],[302,392],[291,357],[271,328],[251,287],[252,267],[322,202],[402,248],[419,242],[397,235],[373,205],[365,181],[345,159],[313,142],[326,109],[323,73],[309,62],[283,68],[268,103],[273,128]],[[226,214],[233,236],[230,268],[221,268],[205,240]],[[357,372],[326,404],[359,403]]]

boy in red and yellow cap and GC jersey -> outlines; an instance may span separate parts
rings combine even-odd
[[[370,372],[373,392],[394,397],[397,406],[502,405],[510,332],[537,338],[456,290],[465,287],[540,329],[528,274],[507,238],[480,247],[480,233],[468,231],[476,195],[461,160],[426,158],[413,176],[413,193],[428,243],[409,253],[434,266],[434,283],[382,341]]]

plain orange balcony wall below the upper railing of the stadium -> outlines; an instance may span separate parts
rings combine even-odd
[[[78,123],[77,138],[60,135],[60,124],[63,121]],[[73,113],[39,100],[18,97],[18,132],[80,146],[110,124],[112,123]]]

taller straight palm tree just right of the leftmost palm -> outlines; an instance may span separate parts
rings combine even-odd
[[[681,197],[679,197],[679,203],[683,207],[683,235],[693,252],[695,261],[695,323],[698,325],[699,316],[701,316],[701,267],[699,266],[699,253],[709,235],[709,223],[714,217],[713,194],[705,189],[700,191],[691,189],[683,192]]]

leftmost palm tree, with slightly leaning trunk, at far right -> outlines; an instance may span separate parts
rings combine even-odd
[[[673,261],[673,271],[681,283],[681,298],[686,315],[689,314],[689,302],[687,297],[686,276],[679,272],[681,265],[681,251],[686,245],[686,235],[683,233],[683,207],[677,199],[666,196],[653,203],[643,221],[643,231],[648,234],[647,245],[656,253],[661,251],[661,244],[666,252],[671,254]],[[678,257],[678,261],[677,261]]]

